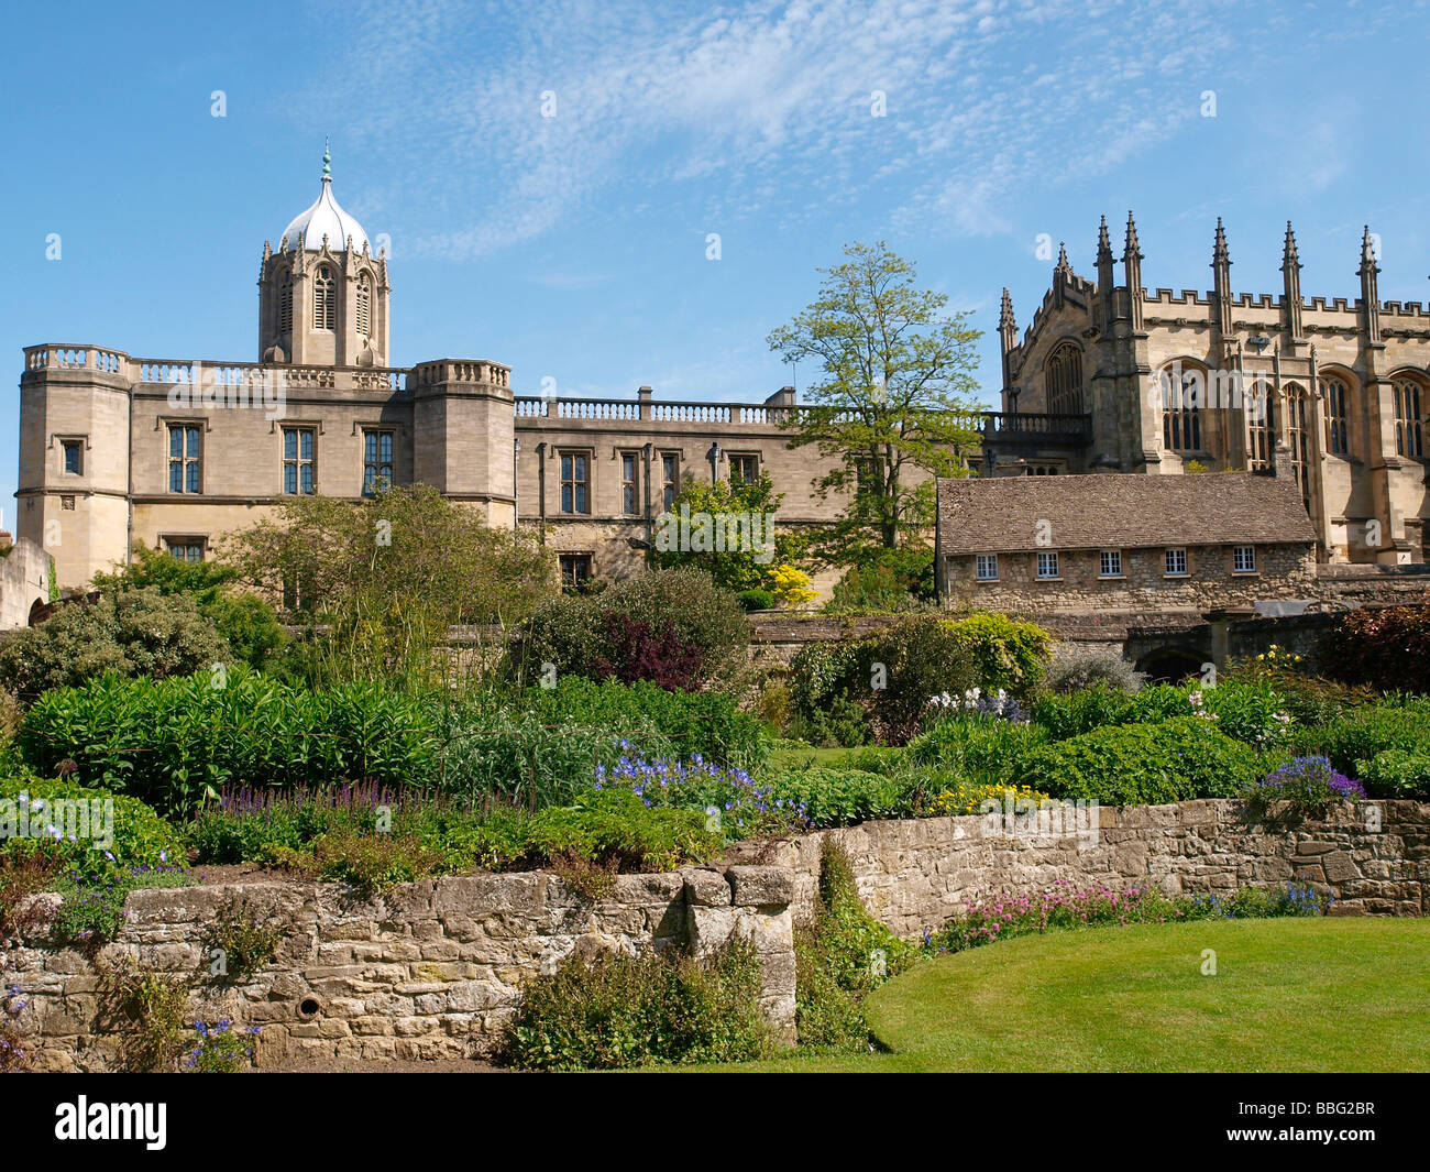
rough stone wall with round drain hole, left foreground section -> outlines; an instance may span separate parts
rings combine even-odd
[[[738,932],[759,952],[766,1017],[792,1040],[791,894],[788,871],[748,866],[619,876],[595,902],[548,873],[445,877],[373,897],[303,882],[154,889],[129,896],[119,939],[93,962],[31,942],[0,953],[0,973],[31,1003],[26,1027],[39,1030],[40,1069],[112,1069],[117,1040],[97,1032],[97,966],[129,956],[196,976],[209,966],[204,929],[237,897],[280,924],[283,943],[252,980],[227,990],[196,982],[192,1009],[262,1026],[259,1066],[479,1058],[492,1053],[522,983],[571,952],[705,953]]]

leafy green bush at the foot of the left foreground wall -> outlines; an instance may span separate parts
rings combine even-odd
[[[502,1058],[542,1070],[742,1062],[771,1049],[759,993],[759,956],[738,936],[704,960],[571,953],[522,990]]]

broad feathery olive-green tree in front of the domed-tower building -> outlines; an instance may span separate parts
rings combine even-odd
[[[483,627],[511,627],[556,588],[535,534],[495,529],[430,485],[293,497],[230,545],[245,581],[322,625],[316,673],[335,680],[438,678],[458,624],[473,625],[480,661]]]

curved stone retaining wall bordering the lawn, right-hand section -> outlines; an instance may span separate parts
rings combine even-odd
[[[1379,811],[1371,816],[1369,811]],[[875,821],[746,847],[742,857],[795,871],[795,917],[814,906],[819,853],[849,856],[865,906],[899,936],[944,924],[981,890],[1154,884],[1211,894],[1308,879],[1337,914],[1430,914],[1430,804],[1361,803],[1328,821],[1248,824],[1230,800],[1098,810],[1097,843],[985,833],[980,816]],[[1370,830],[1373,817],[1380,829]]]

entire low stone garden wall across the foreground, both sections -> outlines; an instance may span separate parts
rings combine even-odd
[[[194,975],[204,929],[240,897],[282,926],[283,944],[263,973],[206,989],[193,1010],[262,1026],[256,1060],[273,1066],[490,1055],[522,983],[558,957],[705,953],[736,932],[759,952],[766,1017],[792,1040],[792,926],[814,907],[825,839],[848,853],[868,909],[905,937],[942,926],[980,892],[1058,882],[1210,894],[1306,879],[1334,896],[1334,914],[1430,914],[1427,803],[1367,801],[1321,821],[1253,824],[1237,803],[1187,801],[1101,809],[1062,836],[1027,830],[980,816],[867,823],[741,844],[722,869],[619,876],[598,900],[549,873],[446,877],[372,897],[303,882],[136,892],[120,937],[94,960],[127,954]],[[116,1062],[116,1039],[96,1026],[94,960],[39,942],[0,953],[0,979],[31,1002],[43,1069]]]

